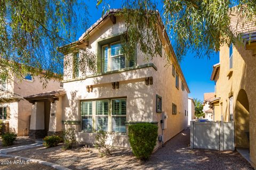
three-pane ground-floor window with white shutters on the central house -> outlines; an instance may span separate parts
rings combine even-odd
[[[81,101],[81,131],[126,133],[126,98]]]

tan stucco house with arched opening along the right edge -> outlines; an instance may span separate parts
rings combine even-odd
[[[234,35],[240,34],[245,40],[243,44],[220,47],[220,63],[213,66],[211,75],[216,84],[216,97],[211,100],[210,107],[215,121],[235,121],[235,147],[250,148],[250,160],[255,168],[256,27],[252,22],[237,23],[237,18],[241,20],[241,17],[236,13],[230,18]]]

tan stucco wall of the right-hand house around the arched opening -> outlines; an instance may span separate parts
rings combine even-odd
[[[220,48],[220,74],[216,82],[216,96],[220,97],[220,105],[218,106],[219,116],[216,120],[221,119],[221,110],[225,121],[229,120],[229,97],[234,97],[234,119],[236,133],[236,147],[248,147],[246,131],[249,131],[250,124],[250,158],[256,165],[256,101],[255,101],[255,70],[256,60],[252,56],[251,50],[245,50],[243,46],[233,47],[233,73],[227,77],[229,73],[229,47]],[[239,106],[237,96],[239,91],[245,91],[249,101],[249,118],[246,116],[245,107]],[[243,99],[244,102],[245,99]],[[222,109],[221,109],[222,103]],[[244,114],[241,114],[244,113]],[[250,123],[248,122],[250,120]],[[247,127],[247,128],[246,128]],[[254,166],[255,166],[254,165]]]

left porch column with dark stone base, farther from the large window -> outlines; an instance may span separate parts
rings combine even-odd
[[[32,106],[29,137],[31,139],[43,138],[44,128],[44,102],[35,102]]]

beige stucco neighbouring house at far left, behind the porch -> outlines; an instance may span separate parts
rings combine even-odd
[[[27,75],[20,80],[11,75],[7,80],[0,81],[0,120],[9,132],[19,136],[28,135],[32,104],[23,99],[23,96],[37,94],[60,88],[60,82],[50,80],[46,88],[40,82],[39,77]]]

